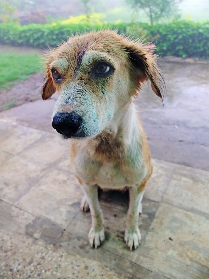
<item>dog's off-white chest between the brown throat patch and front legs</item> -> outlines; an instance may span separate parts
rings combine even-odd
[[[101,148],[102,147],[102,148]],[[74,157],[74,171],[84,183],[98,184],[102,188],[122,189],[125,186],[137,183],[140,176],[143,176],[136,165],[132,164],[120,144],[111,146],[100,146],[93,153],[86,149],[80,151]],[[137,156],[136,158],[139,158]],[[130,160],[131,159],[131,160]]]

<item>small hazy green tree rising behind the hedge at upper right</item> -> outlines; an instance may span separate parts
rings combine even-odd
[[[142,9],[149,17],[151,25],[159,19],[169,18],[178,12],[178,4],[183,0],[126,0],[133,9]]]

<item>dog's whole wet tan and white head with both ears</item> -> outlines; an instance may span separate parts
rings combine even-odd
[[[53,127],[63,138],[85,138],[104,130],[149,79],[161,95],[161,75],[143,44],[114,31],[71,37],[48,53],[42,98],[59,93]]]

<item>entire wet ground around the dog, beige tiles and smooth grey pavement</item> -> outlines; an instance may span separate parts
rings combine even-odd
[[[105,242],[89,246],[70,141],[51,127],[56,95],[0,113],[1,279],[209,278],[209,65],[161,67],[164,106],[149,88],[136,100],[154,165],[136,251],[123,241],[127,193],[112,191],[100,194]]]

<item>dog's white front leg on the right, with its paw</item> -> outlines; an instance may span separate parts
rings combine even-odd
[[[127,213],[126,229],[125,229],[125,242],[132,250],[138,247],[141,241],[141,234],[138,228],[138,216],[141,213],[141,201],[144,191],[139,191],[137,185],[129,187],[129,209]]]

